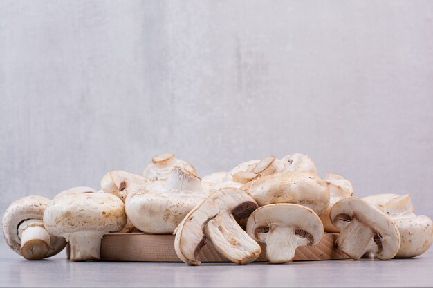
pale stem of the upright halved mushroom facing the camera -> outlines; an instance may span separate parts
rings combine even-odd
[[[293,260],[297,247],[308,244],[308,239],[297,236],[293,227],[272,225],[264,242],[268,262],[286,263]]]

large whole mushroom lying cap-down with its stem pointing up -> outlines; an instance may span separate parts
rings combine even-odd
[[[152,182],[127,196],[125,209],[134,227],[146,233],[173,233],[182,219],[209,195],[210,185],[174,167],[166,182]]]

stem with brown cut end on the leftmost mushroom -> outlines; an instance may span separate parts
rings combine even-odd
[[[21,255],[27,260],[41,260],[50,249],[50,234],[42,220],[27,220],[19,225]]]

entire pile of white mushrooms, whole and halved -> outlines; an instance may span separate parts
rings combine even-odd
[[[411,258],[433,242],[433,222],[417,216],[409,195],[353,197],[351,182],[335,173],[322,179],[313,160],[296,153],[250,160],[198,177],[192,164],[171,153],[152,158],[140,174],[107,172],[99,191],[74,187],[53,200],[21,198],[3,215],[3,235],[28,260],[66,246],[73,261],[100,259],[105,233],[175,234],[179,259],[200,265],[212,245],[240,265],[266,253],[287,263],[297,247],[338,233],[335,247],[358,260]]]

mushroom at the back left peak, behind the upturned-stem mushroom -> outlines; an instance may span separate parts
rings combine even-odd
[[[149,164],[142,172],[142,176],[150,181],[165,181],[175,166],[183,168],[193,175],[197,171],[190,163],[176,157],[172,153],[165,153],[152,158],[152,164]]]

